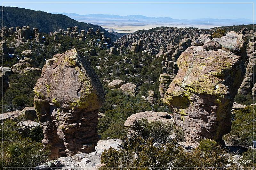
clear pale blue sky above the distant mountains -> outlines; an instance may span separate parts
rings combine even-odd
[[[7,0],[6,0],[7,1]],[[237,1],[172,1],[172,0],[127,0],[127,1],[96,1],[96,0],[72,0],[73,2],[243,2]],[[41,2],[72,2],[67,0],[51,1],[44,0]],[[8,2],[17,2],[8,0]],[[31,2],[22,0],[21,2]],[[35,2],[35,1],[34,1]],[[38,1],[40,2],[40,1]],[[254,1],[246,1],[254,2]],[[256,4],[255,4],[256,5]],[[114,15],[144,15],[148,17],[171,17],[175,19],[195,19],[195,18],[248,18],[252,19],[252,4],[10,4],[4,3],[4,6],[16,6],[32,10],[45,12],[67,12],[83,14],[114,14]],[[254,20],[255,20],[254,15]]]

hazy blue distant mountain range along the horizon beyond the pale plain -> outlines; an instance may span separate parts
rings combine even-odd
[[[241,24],[252,24],[251,19],[237,18],[237,19],[217,19],[217,18],[197,18],[197,19],[173,19],[170,17],[146,17],[143,15],[107,15],[107,14],[87,14],[79,15],[76,13],[52,13],[52,14],[63,14],[76,20],[123,20],[127,22],[168,22],[168,23],[197,23],[197,24],[220,24],[225,25],[241,25]]]

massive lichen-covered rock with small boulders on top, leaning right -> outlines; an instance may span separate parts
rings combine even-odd
[[[227,35],[218,39],[225,50],[219,45],[214,50],[203,46],[185,50],[177,60],[178,74],[164,94],[163,102],[173,110],[187,142],[219,141],[230,132],[232,104],[244,78],[247,55],[243,40],[230,39],[241,36]]]

